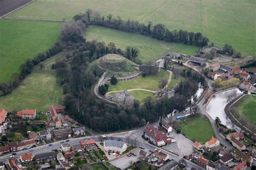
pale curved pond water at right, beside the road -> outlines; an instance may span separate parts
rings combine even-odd
[[[224,108],[227,105],[227,96],[233,92],[236,92],[237,96],[242,94],[242,92],[237,88],[217,93],[212,97],[210,103],[207,105],[206,111],[213,119],[219,117],[221,124],[226,125],[228,128],[239,130],[240,128],[231,122],[224,111]]]

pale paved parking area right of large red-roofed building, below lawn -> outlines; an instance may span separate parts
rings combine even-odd
[[[175,131],[171,132],[170,135],[172,135],[177,142],[173,142],[167,146],[164,146],[163,148],[179,155],[190,155],[193,153],[193,141],[186,138],[183,134],[177,134]]]

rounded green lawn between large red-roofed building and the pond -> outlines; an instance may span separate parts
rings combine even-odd
[[[179,123],[182,133],[192,140],[206,142],[215,136],[210,121],[201,115],[182,119]]]

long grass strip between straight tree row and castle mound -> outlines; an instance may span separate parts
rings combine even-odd
[[[137,47],[137,49],[139,49],[138,57],[143,62],[149,59],[159,59],[161,56],[167,55],[167,53],[171,51],[185,53],[187,55],[192,55],[194,52],[198,51],[198,47],[196,46],[167,43],[163,40],[157,40],[136,33],[119,31],[96,25],[89,26],[85,31],[85,38],[87,40],[105,42],[105,44],[113,42],[122,50],[125,50],[126,46]]]

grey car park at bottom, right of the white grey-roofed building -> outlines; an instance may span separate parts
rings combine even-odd
[[[131,166],[131,164],[133,164],[133,162],[137,162],[139,160],[139,151],[140,151],[140,148],[135,148],[131,151],[131,153],[133,153],[135,156],[131,155],[131,157],[127,157],[124,154],[122,156],[119,156],[119,158],[116,158],[116,159],[111,160],[109,162],[113,166],[116,166],[120,169],[125,169],[125,168]]]

